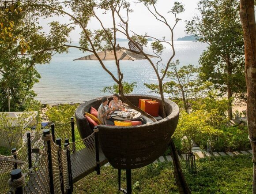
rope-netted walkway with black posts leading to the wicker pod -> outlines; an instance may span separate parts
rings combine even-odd
[[[74,129],[71,119],[33,136],[27,132],[13,156],[0,155],[0,193],[70,194],[73,183],[95,170],[99,174],[108,160],[98,146],[98,130],[75,142]]]

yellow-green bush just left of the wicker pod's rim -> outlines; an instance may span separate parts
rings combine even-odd
[[[68,123],[72,116],[75,116],[75,109],[79,104],[60,104],[50,107],[45,113],[50,122]]]

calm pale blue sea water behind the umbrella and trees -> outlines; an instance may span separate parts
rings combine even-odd
[[[119,42],[119,44],[128,48],[128,42]],[[73,45],[78,45],[78,43]],[[174,46],[176,52],[174,60],[180,60],[181,66],[188,64],[197,66],[200,55],[207,45],[193,41],[174,41]],[[143,49],[152,54],[149,48]],[[83,102],[109,95],[102,93],[101,90],[104,86],[113,86],[114,81],[102,69],[98,61],[73,61],[88,54],[90,53],[70,48],[69,53],[53,56],[50,64],[37,65],[36,68],[41,74],[41,79],[34,85],[34,91],[38,94],[36,99],[44,104],[59,104]],[[170,47],[166,45],[166,49],[162,53],[163,61],[166,62],[171,54]],[[156,59],[153,60],[156,61]],[[114,75],[117,75],[114,61],[105,61],[105,65]],[[120,68],[124,74],[124,81],[137,82],[133,93],[154,94],[148,93],[149,89],[143,86],[145,82],[158,82],[154,70],[147,60],[120,61]]]

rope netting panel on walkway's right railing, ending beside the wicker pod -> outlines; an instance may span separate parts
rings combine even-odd
[[[70,143],[70,146],[72,177],[74,179],[96,165],[94,133],[80,141]],[[74,148],[75,151],[72,151]]]

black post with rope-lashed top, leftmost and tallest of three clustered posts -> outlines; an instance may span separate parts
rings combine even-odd
[[[54,194],[54,183],[53,183],[53,160],[52,160],[52,149],[51,141],[52,138],[46,138],[50,134],[49,129],[43,131],[43,140],[47,142],[47,153],[48,153],[48,169],[49,169],[49,180],[50,180],[50,193]]]

